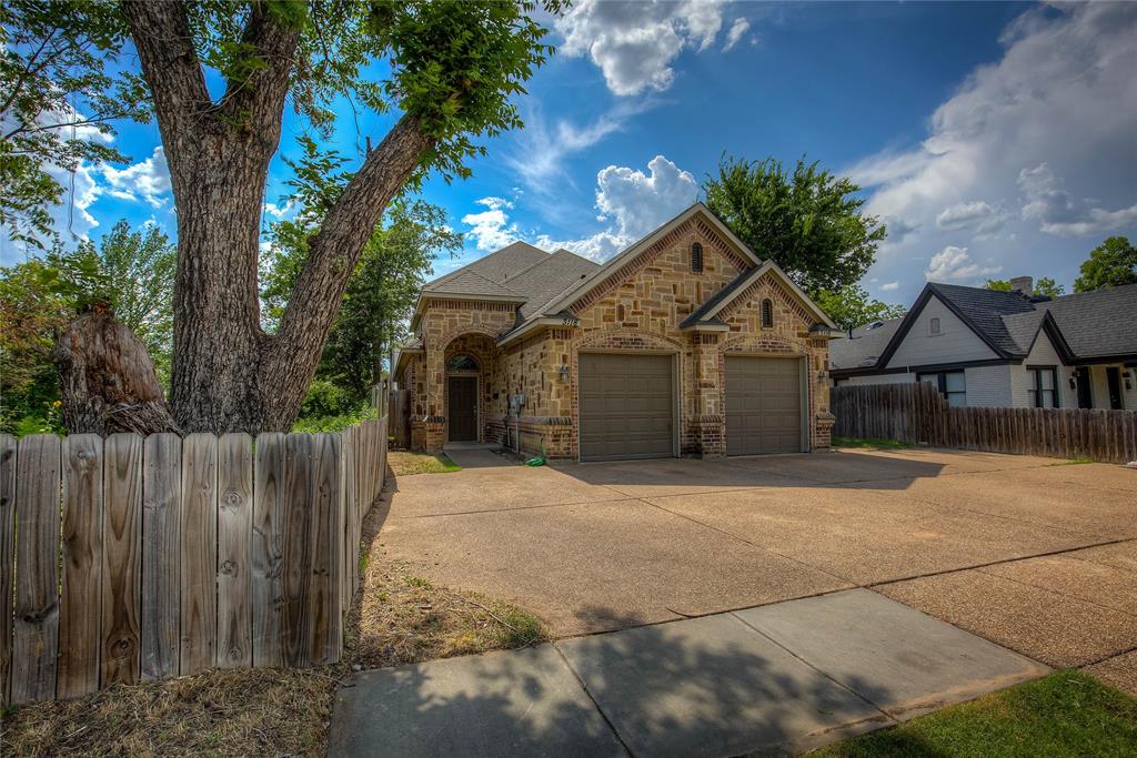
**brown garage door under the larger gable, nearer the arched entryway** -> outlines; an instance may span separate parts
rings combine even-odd
[[[674,451],[671,356],[580,356],[580,458],[666,458]]]

